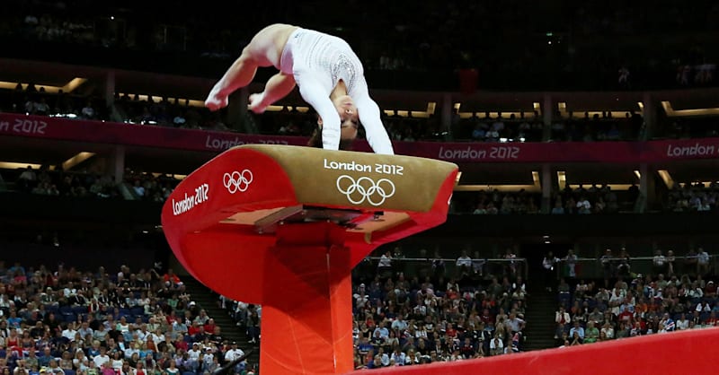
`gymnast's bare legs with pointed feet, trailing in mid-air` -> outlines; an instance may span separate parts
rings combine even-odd
[[[252,83],[254,74],[257,72],[257,68],[260,66],[276,66],[280,67],[280,57],[282,55],[282,49],[287,43],[289,34],[295,31],[297,27],[284,25],[284,24],[273,24],[262,31],[258,32],[250,43],[243,49],[242,55],[237,57],[235,62],[227,69],[225,75],[215,84],[212,91],[209,92],[208,99],[205,100],[205,106],[210,110],[217,110],[227,106],[227,97],[235,90],[245,87]],[[277,87],[275,92],[270,92],[270,95],[265,95],[268,100],[271,97],[276,97],[281,92],[285,92],[285,95],[294,88],[294,80],[291,81],[291,87],[289,90],[286,86],[290,85],[290,82],[286,77],[272,77],[271,83],[272,88]],[[268,83],[270,85],[270,83]],[[267,90],[266,90],[267,91]],[[281,98],[281,97],[280,97]],[[275,98],[278,100],[280,98]],[[258,105],[256,107],[263,110],[261,103],[267,102],[262,98],[254,98]],[[252,101],[252,100],[251,100]],[[266,104],[264,107],[269,104]]]

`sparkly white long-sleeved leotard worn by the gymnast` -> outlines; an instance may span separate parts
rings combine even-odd
[[[324,149],[340,147],[341,118],[330,94],[342,80],[357,106],[359,121],[375,153],[394,154],[392,142],[379,116],[377,103],[369,97],[364,69],[346,41],[319,31],[297,29],[289,35],[280,58],[280,71],[293,74],[299,93],[323,119]]]

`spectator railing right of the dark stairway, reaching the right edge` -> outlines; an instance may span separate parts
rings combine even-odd
[[[557,267],[557,277],[574,277],[577,279],[603,279],[623,277],[634,278],[637,275],[652,275],[656,278],[662,274],[669,279],[671,275],[712,275],[719,270],[719,256],[706,255],[673,257],[669,262],[664,256],[661,265],[654,264],[654,257],[621,257],[594,258],[577,257],[573,262],[563,259]],[[706,263],[704,263],[706,259]],[[572,266],[574,264],[574,272]],[[671,265],[671,266],[670,266]]]

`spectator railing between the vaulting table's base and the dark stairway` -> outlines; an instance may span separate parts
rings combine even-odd
[[[492,277],[502,278],[503,275],[522,276],[524,280],[528,279],[527,259],[523,257],[472,259],[472,266],[465,269],[457,266],[457,258],[395,257],[391,259],[390,269],[380,269],[380,259],[381,257],[365,258],[359,266],[355,267],[355,272],[360,275],[375,275],[379,272],[386,273],[385,276],[402,273],[407,279],[416,276],[420,281],[427,276],[439,275],[443,275],[445,279],[458,279],[464,276],[463,274],[484,280]]]

